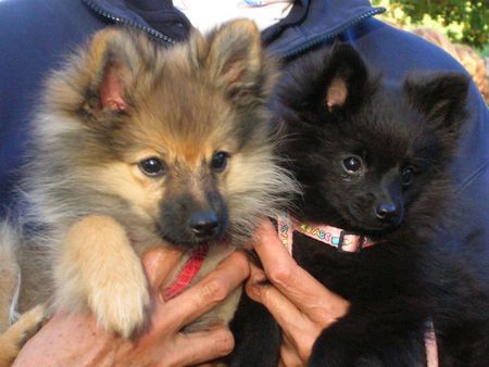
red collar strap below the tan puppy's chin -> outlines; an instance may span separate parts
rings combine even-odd
[[[175,281],[165,288],[164,299],[170,300],[180,294],[192,281],[193,277],[199,273],[202,264],[208,255],[209,246],[200,245],[192,250],[187,263],[183,266],[180,273],[178,273]]]

